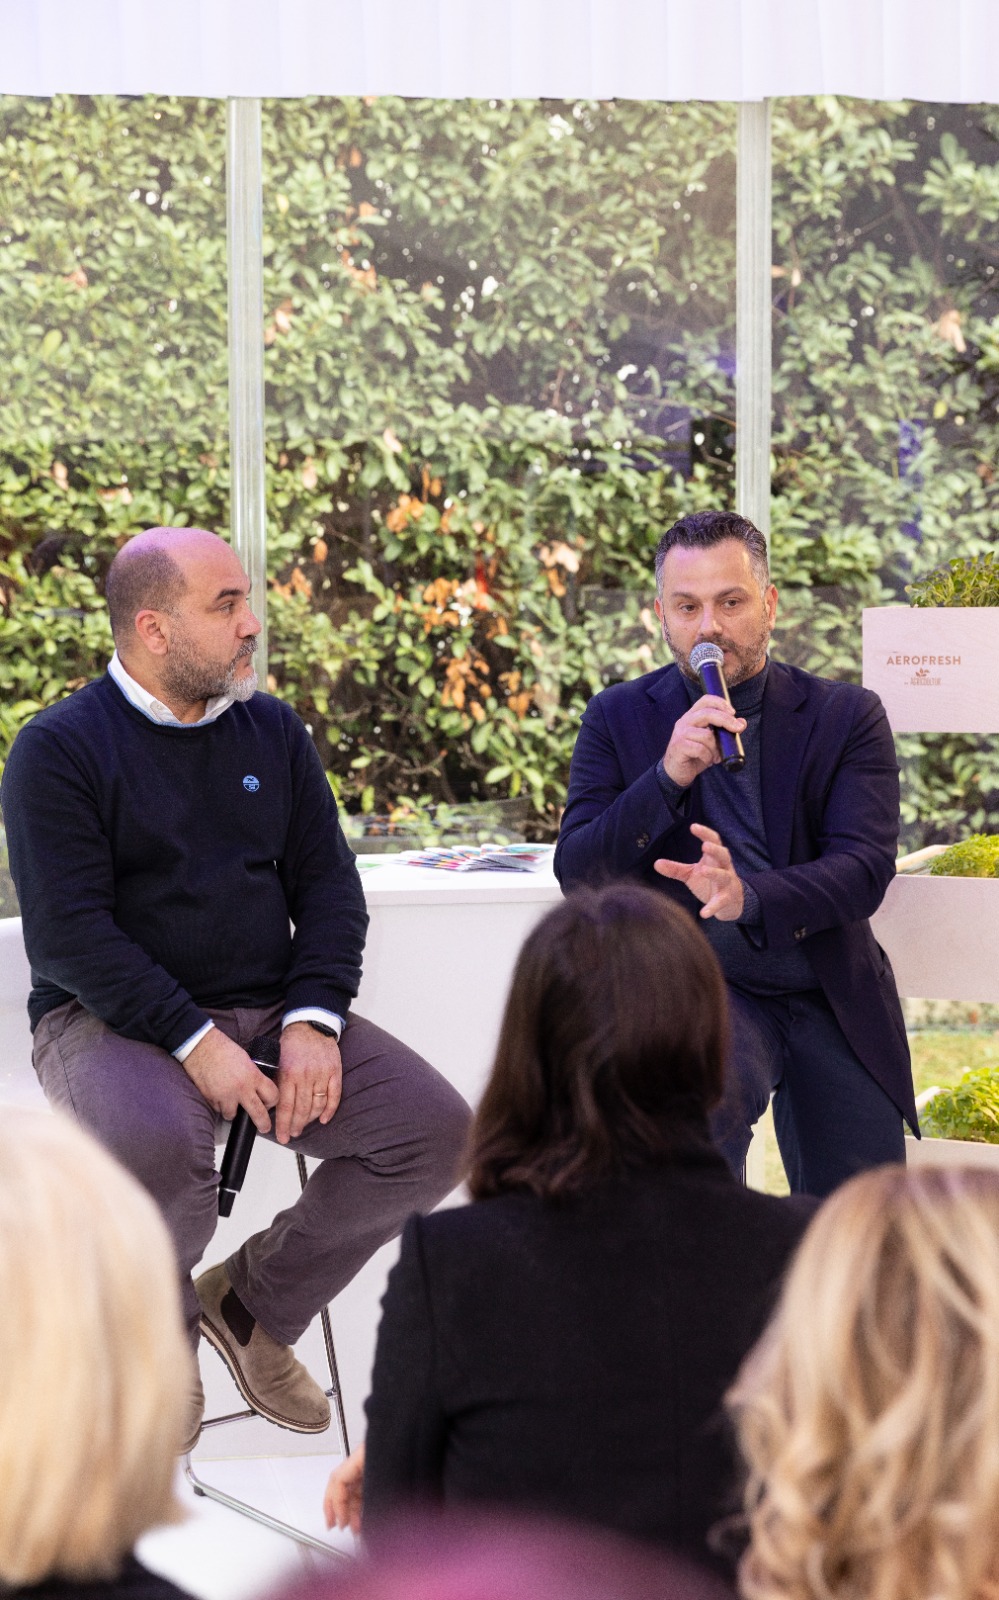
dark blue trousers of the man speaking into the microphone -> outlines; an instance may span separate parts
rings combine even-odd
[[[773,1094],[776,1142],[794,1194],[828,1195],[853,1173],[905,1163],[901,1112],[847,1043],[820,989],[728,990],[732,1050],[714,1141],[736,1174]]]

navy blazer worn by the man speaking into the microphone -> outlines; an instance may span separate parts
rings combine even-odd
[[[564,890],[634,877],[695,915],[698,901],[660,877],[660,856],[696,861],[695,779],[679,808],[656,779],[672,726],[690,707],[676,666],[596,694],[573,750],[556,877]],[[772,661],[760,718],[764,827],[773,867],[744,874],[780,950],[807,941],[815,978],[865,1067],[917,1130],[905,1021],[889,958],[868,918],[895,875],[898,762],[877,694]]]

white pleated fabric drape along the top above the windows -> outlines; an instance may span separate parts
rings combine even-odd
[[[999,101],[997,0],[0,0],[0,93]]]

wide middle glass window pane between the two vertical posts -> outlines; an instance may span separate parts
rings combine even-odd
[[[274,682],[352,811],[551,837],[732,499],[733,109],[274,102],[264,234]]]

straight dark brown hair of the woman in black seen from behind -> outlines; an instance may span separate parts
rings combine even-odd
[[[725,982],[688,912],[639,883],[576,890],[517,958],[472,1195],[562,1197],[706,1138],[727,1042]]]

